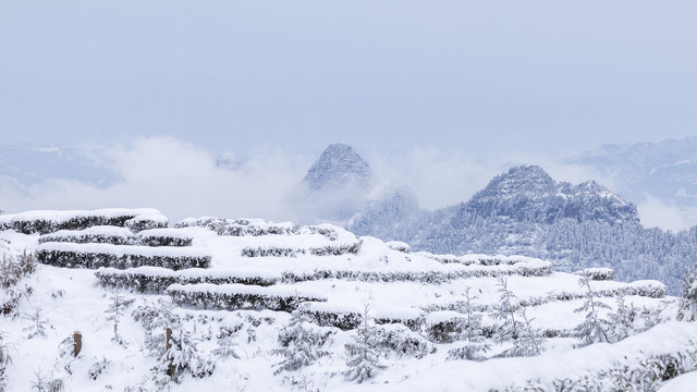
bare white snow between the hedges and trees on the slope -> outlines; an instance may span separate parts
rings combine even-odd
[[[199,222],[200,220],[187,220]],[[170,383],[173,391],[228,390],[233,385],[240,391],[276,391],[297,389],[293,380],[305,377],[311,382],[308,389],[322,391],[450,391],[450,390],[503,390],[508,387],[526,385],[533,381],[550,389],[554,379],[596,375],[624,365],[634,366],[651,355],[682,353],[693,350],[697,341],[697,328],[693,323],[669,322],[659,324],[647,332],[614,344],[594,344],[576,348],[578,341],[567,338],[568,331],[583,321],[585,315],[574,313],[583,302],[586,290],[578,284],[578,275],[553,272],[549,261],[521,256],[439,256],[426,253],[405,254],[395,250],[374,237],[357,237],[343,229],[331,225],[296,226],[282,223],[277,231],[276,223],[260,220],[236,220],[247,225],[266,225],[269,230],[256,231],[258,235],[217,234],[200,224],[179,226],[179,229],[155,229],[140,232],[140,236],[170,236],[193,238],[191,247],[148,247],[110,244],[38,244],[38,235],[24,235],[14,231],[0,231],[0,250],[9,255],[29,252],[61,250],[75,253],[111,254],[119,256],[210,256],[210,268],[189,268],[172,271],[164,268],[145,266],[115,270],[101,268],[97,273],[133,274],[142,277],[169,277],[180,279],[169,286],[169,293],[220,295],[259,295],[276,297],[313,298],[303,305],[317,318],[327,317],[323,326],[331,326],[329,316],[347,323],[359,320],[364,305],[370,306],[370,315],[380,322],[402,320],[405,324],[414,321],[418,326],[432,326],[463,317],[463,302],[467,291],[476,298],[472,301],[477,315],[482,317],[482,327],[491,331],[500,324],[490,317],[499,304],[499,278],[504,278],[517,296],[531,321],[533,327],[545,331],[557,331],[559,338],[550,338],[547,352],[530,358],[493,358],[510,347],[511,343],[493,344],[490,358],[482,363],[468,360],[447,362],[450,348],[464,342],[436,344],[438,351],[419,359],[409,355],[381,357],[388,368],[375,379],[363,384],[346,381],[341,375],[346,370],[345,344],[353,339],[354,331],[334,327],[314,327],[331,333],[327,346],[331,354],[316,360],[306,369],[283,372],[276,376],[273,364],[281,358],[272,353],[279,348],[279,331],[288,324],[288,311],[265,310],[212,310],[194,306],[173,306],[172,314],[179,318],[175,329],[191,333],[198,353],[212,358],[216,369],[210,377],[194,379],[186,376],[182,383]],[[227,220],[228,223],[232,220]],[[237,223],[234,223],[237,224]],[[241,223],[240,223],[241,224]],[[123,228],[90,228],[80,232],[61,232],[56,235],[76,233],[126,234]],[[249,233],[253,233],[250,231]],[[278,234],[284,233],[284,234]],[[243,249],[260,246],[288,246],[311,249],[315,247],[352,244],[360,242],[355,254],[322,255],[306,254],[302,257],[245,257]],[[455,260],[455,261],[453,261]],[[529,272],[534,271],[534,274]],[[212,284],[206,279],[225,277],[264,278],[270,286],[250,284]],[[201,283],[181,284],[199,279]],[[28,321],[0,316],[0,331],[7,332],[16,352],[8,373],[9,390],[27,390],[35,379],[34,372],[40,367],[51,377],[63,378],[66,390],[137,390],[152,389],[152,369],[158,358],[145,344],[145,327],[132,317],[135,309],[162,310],[172,306],[170,295],[140,294],[121,289],[121,295],[135,299],[124,313],[119,331],[127,341],[126,346],[112,342],[113,324],[107,320],[107,310],[114,295],[114,289],[102,287],[94,270],[63,269],[39,265],[37,272],[25,282],[33,293],[21,302],[22,315],[40,309],[48,319],[48,336],[27,339],[23,331]],[[24,284],[24,283],[23,283]],[[616,309],[615,297],[625,294],[625,303],[647,309],[665,308],[664,319],[674,317],[676,299],[664,297],[664,285],[657,281],[624,283],[616,281],[591,281],[590,287],[597,301],[610,306],[601,309],[600,317],[607,317]],[[0,296],[0,301],[3,297]],[[304,299],[303,299],[304,301]],[[378,326],[383,327],[383,326]],[[400,326],[402,327],[402,326]],[[219,347],[218,336],[224,329],[235,331],[231,338],[242,359],[221,358],[212,354]],[[418,328],[417,328],[418,329]],[[420,332],[409,331],[407,338],[425,339]],[[389,328],[392,333],[401,333],[405,328]],[[64,359],[58,357],[60,342],[81,331],[84,351],[77,359],[70,359],[68,373]],[[159,331],[159,330],[158,330]],[[158,332],[156,331],[156,332]],[[159,331],[158,333],[163,333]],[[566,338],[565,338],[566,336]],[[405,338],[406,339],[406,338]],[[160,347],[161,350],[162,347]],[[102,358],[111,365],[97,380],[87,375],[89,368]]]

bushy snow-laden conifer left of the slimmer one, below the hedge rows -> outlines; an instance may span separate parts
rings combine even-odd
[[[310,365],[316,359],[329,355],[321,350],[333,331],[320,330],[307,320],[306,313],[296,309],[291,314],[291,321],[279,331],[281,348],[273,353],[283,359],[276,364],[274,373],[294,371]]]

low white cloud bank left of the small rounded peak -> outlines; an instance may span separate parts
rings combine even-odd
[[[291,215],[288,191],[307,168],[303,158],[283,150],[257,149],[230,170],[216,166],[212,152],[171,137],[139,138],[93,152],[97,150],[121,182],[106,188],[70,180],[5,187],[5,212],[152,207],[173,221],[200,216],[284,220]]]

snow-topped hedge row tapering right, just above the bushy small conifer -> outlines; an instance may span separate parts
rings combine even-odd
[[[173,284],[167,289],[172,301],[182,306],[204,309],[270,309],[292,311],[304,302],[326,302],[315,293],[299,293],[292,287],[249,286],[244,284]]]

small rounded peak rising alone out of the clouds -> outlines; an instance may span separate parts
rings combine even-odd
[[[371,176],[368,163],[351,146],[332,144],[309,168],[303,182],[313,191],[323,191],[351,183],[364,185]]]

